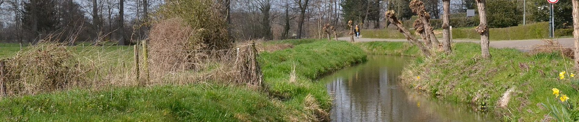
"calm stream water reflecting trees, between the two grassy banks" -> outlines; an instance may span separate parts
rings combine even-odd
[[[400,87],[409,57],[368,56],[368,62],[343,69],[328,81],[334,97],[332,121],[496,121],[467,105],[438,101]]]

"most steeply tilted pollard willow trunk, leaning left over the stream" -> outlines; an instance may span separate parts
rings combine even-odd
[[[400,31],[402,34],[404,34],[404,36],[406,36],[406,40],[408,40],[408,42],[412,43],[413,45],[416,45],[420,49],[420,51],[422,51],[424,56],[427,57],[430,56],[431,54],[430,50],[428,50],[428,48],[424,46],[423,43],[419,42],[412,34],[410,34],[408,29],[406,29],[404,25],[402,25],[402,22],[398,20],[396,14],[394,13],[394,10],[389,10],[384,14],[386,15],[386,17],[388,17],[391,23],[396,26],[398,31]]]

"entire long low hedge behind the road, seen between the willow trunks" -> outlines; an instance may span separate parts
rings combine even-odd
[[[436,36],[442,36],[441,29],[435,30]],[[525,40],[525,39],[545,39],[549,38],[548,23],[533,23],[517,27],[508,28],[490,28],[490,40]],[[558,36],[569,35],[568,30],[559,31],[562,33]],[[572,32],[572,31],[571,31]],[[412,29],[412,34],[414,31]],[[404,35],[394,29],[365,29],[362,30],[361,35],[364,38],[381,38],[381,39],[406,39]],[[415,35],[417,38],[420,37]],[[481,35],[475,31],[475,28],[453,28],[453,39],[481,39]]]

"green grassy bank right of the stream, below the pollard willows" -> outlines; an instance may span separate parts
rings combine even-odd
[[[397,50],[379,52],[382,54],[413,55],[416,53],[391,52],[417,52],[416,48],[403,48],[398,42],[371,42],[358,45],[363,48],[373,46]],[[570,72],[573,66],[570,58],[564,58],[558,53],[529,55],[515,49],[492,48],[490,53],[493,57],[488,61],[479,57],[478,44],[456,43],[453,48],[454,53],[448,57],[428,60],[417,58],[402,75],[406,85],[426,93],[440,95],[439,98],[449,101],[485,106],[488,110],[512,120],[543,119],[549,112],[541,110],[537,103],[555,104],[551,88],[559,88],[570,96],[571,101],[577,101],[579,94],[571,87],[577,86],[577,80],[557,79],[560,71]],[[416,76],[420,76],[420,79]],[[508,88],[515,88],[515,94],[512,94],[508,107],[494,107]],[[482,98],[472,102],[477,94]]]

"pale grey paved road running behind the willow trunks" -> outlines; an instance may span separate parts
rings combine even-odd
[[[350,37],[341,37],[338,40],[350,40]],[[565,47],[573,47],[573,38],[559,38],[559,43]],[[387,41],[387,42],[407,42],[406,39],[373,39],[373,38],[354,38],[356,42],[377,42],[377,41]],[[480,40],[452,40],[452,42],[474,42],[479,43]],[[542,39],[533,40],[493,40],[490,41],[489,46],[495,48],[514,48],[521,51],[529,51],[533,49],[535,45],[542,45],[544,42]]]

